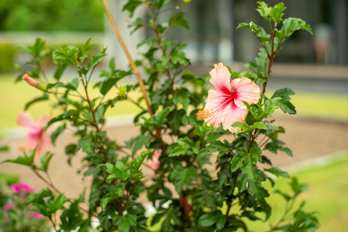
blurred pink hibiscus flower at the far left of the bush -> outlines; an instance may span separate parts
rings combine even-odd
[[[44,130],[44,126],[49,120],[48,116],[42,115],[34,122],[29,112],[21,111],[18,114],[17,124],[23,126],[27,132],[26,147],[29,150],[37,147],[35,155],[46,154],[52,149],[52,130],[50,127],[46,131]]]

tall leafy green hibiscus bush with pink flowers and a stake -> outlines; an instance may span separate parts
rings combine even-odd
[[[296,30],[312,33],[310,26],[299,18],[284,18],[284,3],[270,7],[258,2],[256,10],[267,20],[269,32],[254,22],[237,27],[249,30],[261,44],[255,62],[245,64],[250,71],[234,71],[216,62],[210,75],[200,76],[187,70],[191,63],[184,52],[186,44],[166,38],[172,27],[189,29],[184,14],[175,11],[168,19],[159,20],[161,13],[184,7],[187,2],[176,5],[171,0],[127,1],[123,10],[130,18],[138,7],[147,10],[146,17],[132,20],[129,27],[133,32],[145,28],[151,34],[137,45],[146,47],[146,51],[140,59],[133,60],[108,6],[101,0],[130,68],[118,69],[115,58],[111,58],[109,68],[101,71],[94,83],[91,76],[107,56],[107,47],[91,55],[92,38],[82,47],[57,47],[52,54],[40,39],[33,46],[23,47],[32,55],[28,62],[32,67],[20,69],[16,81],[24,80],[43,92],[29,101],[25,110],[49,100],[61,114],[35,122],[28,113],[20,113],[18,124],[27,130],[23,149],[30,150],[31,155],[24,152],[24,156],[7,162],[29,166],[48,185],[47,189],[31,193],[26,202],[48,218],[56,231],[88,231],[92,225],[98,231],[120,232],[248,231],[248,220],[269,224],[269,231],[318,228],[315,214],[305,212],[303,202],[295,203],[306,190],[305,184],[292,178],[288,181],[292,192],[269,192],[262,186],[265,182],[274,185],[277,177],[282,181],[290,178],[285,171],[272,167],[262,152],[293,155],[278,140],[284,128],[274,125],[271,114],[275,110],[296,114],[290,102],[294,92],[283,88],[265,95],[272,63]],[[53,77],[46,76],[43,67],[48,58],[56,64]],[[61,79],[66,68],[72,68],[77,75],[69,82]],[[132,75],[137,77],[137,83],[119,84]],[[98,89],[99,96],[91,98],[91,88]],[[142,97],[132,99],[132,91],[141,91]],[[119,101],[129,101],[141,110],[134,118],[140,134],[134,134],[124,144],[109,138],[104,129],[105,112],[119,107]],[[50,148],[67,129],[78,138],[77,143],[65,147],[68,163],[82,150],[80,172],[93,177],[90,194],[82,192],[76,199],[61,192],[47,172],[48,167],[52,171],[59,168],[50,164],[54,155]],[[267,166],[261,168],[259,164]],[[144,166],[152,173],[144,174]],[[287,202],[283,216],[275,223],[268,222],[270,194],[281,194]],[[54,220],[57,216],[60,220]]]

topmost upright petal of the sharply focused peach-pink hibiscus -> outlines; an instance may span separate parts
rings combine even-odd
[[[219,65],[215,64],[214,67],[215,68],[209,72],[211,76],[209,82],[214,85],[217,92],[229,94],[231,92],[230,72],[222,63],[219,63]]]

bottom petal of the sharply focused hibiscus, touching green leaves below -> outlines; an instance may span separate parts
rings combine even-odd
[[[240,109],[234,102],[229,103],[222,114],[222,127],[224,130],[229,130],[232,133],[236,133],[236,131],[240,128],[232,127],[232,124],[235,122],[245,123],[246,115],[248,114],[247,109]]]

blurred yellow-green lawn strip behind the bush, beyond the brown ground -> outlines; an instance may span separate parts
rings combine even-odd
[[[18,111],[24,108],[26,102],[34,97],[42,95],[40,90],[29,86],[25,82],[14,84],[16,74],[2,74],[0,75],[0,108],[1,120],[0,130],[16,126],[16,115]],[[82,93],[82,88],[80,92]],[[273,92],[269,90],[268,92]],[[112,98],[117,94],[116,89],[111,90],[106,99]],[[98,95],[98,89],[90,91],[91,98],[100,96]],[[133,99],[137,99],[141,96],[138,92],[129,93]],[[329,95],[316,93],[301,93],[298,92],[294,96],[291,96],[292,103],[296,106],[298,115],[302,117],[314,117],[314,118],[327,118],[348,120],[348,95]],[[29,111],[34,118],[37,118],[41,114],[55,116],[60,111],[52,110],[49,108],[48,102],[41,102],[32,106]],[[137,113],[139,108],[133,103],[121,101],[118,102],[115,107],[107,111],[106,115],[119,115]],[[281,110],[276,111],[277,114],[282,114]]]

